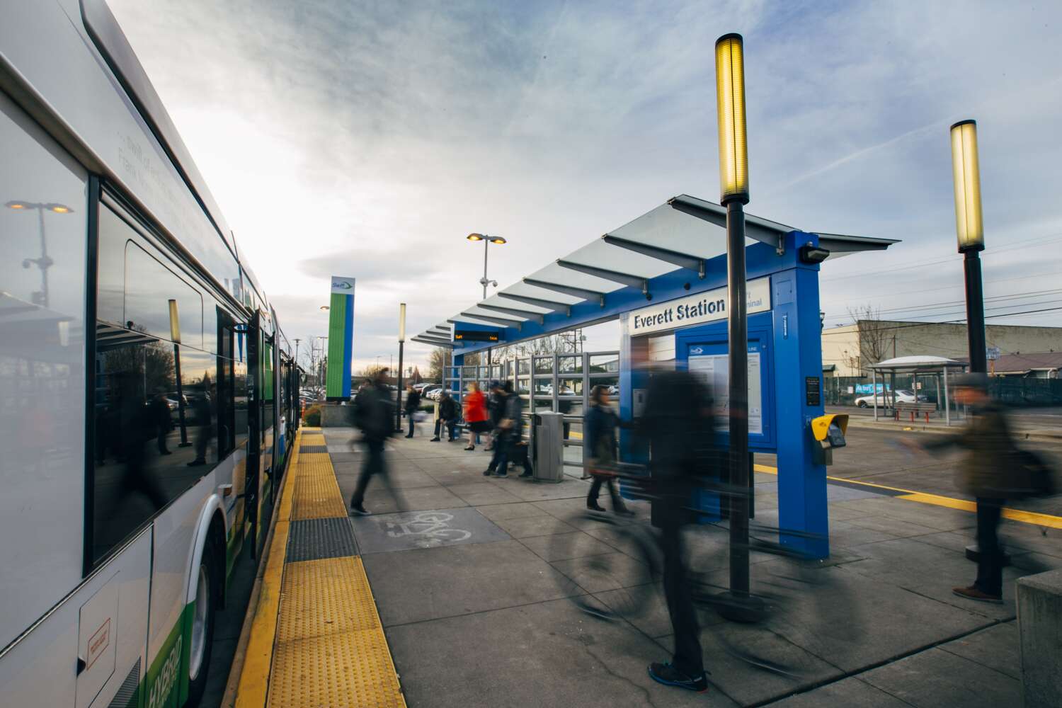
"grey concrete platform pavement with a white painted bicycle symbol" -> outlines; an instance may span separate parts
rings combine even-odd
[[[348,500],[362,453],[350,429],[324,430]],[[373,516],[352,519],[402,690],[410,706],[1000,706],[1020,702],[1013,580],[1062,567],[1062,548],[1035,526],[1004,522],[1011,548],[1004,605],[952,594],[973,581],[963,557],[967,512],[830,485],[828,583],[766,625],[705,620],[702,644],[713,686],[698,695],[646,673],[670,655],[662,597],[641,616],[603,622],[575,594],[623,598],[646,569],[622,538],[585,519],[587,484],[486,478],[487,453],[428,436],[393,438],[389,494],[374,480]],[[775,525],[776,479],[756,473],[756,522]],[[397,514],[401,498],[405,513]],[[602,503],[607,506],[606,499]],[[645,505],[637,505],[644,519]],[[699,570],[726,583],[725,531],[690,534]],[[584,573],[609,556],[612,582]],[[704,558],[713,565],[705,566]],[[777,558],[753,554],[754,584],[777,580]],[[835,619],[836,616],[836,619]],[[816,621],[825,618],[825,621]],[[747,647],[795,676],[755,668],[726,644]]]

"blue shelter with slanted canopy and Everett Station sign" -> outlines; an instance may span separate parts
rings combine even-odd
[[[653,373],[679,368],[710,384],[725,421],[725,220],[718,204],[673,197],[414,340],[452,350],[447,378],[460,396],[469,353],[618,320],[615,378],[622,419],[640,417]],[[780,525],[799,532],[783,541],[826,557],[826,470],[816,462],[819,444],[810,426],[823,413],[820,263],[883,251],[896,241],[802,231],[752,214],[746,235],[749,447],[777,454]],[[528,393],[521,395],[529,403],[547,397],[560,402],[560,360],[548,373],[550,392],[534,388],[533,365],[529,362]],[[485,373],[484,379],[493,378],[493,370]],[[515,373],[510,378],[518,384],[519,363]],[[545,379],[547,373],[538,375]],[[581,393],[586,395],[585,386]],[[719,434],[725,438],[725,429]],[[621,433],[623,462],[648,463],[649,455],[631,433]]]

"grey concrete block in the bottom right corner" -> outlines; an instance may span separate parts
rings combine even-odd
[[[1017,580],[1025,708],[1062,706],[1062,570]]]

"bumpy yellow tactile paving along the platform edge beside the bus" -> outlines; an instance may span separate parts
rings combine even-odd
[[[262,582],[261,597],[272,604],[260,602],[255,612],[236,705],[405,708],[361,558],[284,562],[291,521],[346,518],[329,456],[299,456],[299,445],[324,445],[324,436],[315,429],[303,429],[295,442],[291,477],[280,500]],[[280,567],[277,572],[271,572],[276,570],[274,565]],[[267,618],[271,612],[270,623]],[[271,666],[267,662],[263,667],[260,660],[263,646]],[[252,655],[259,660],[249,670]]]

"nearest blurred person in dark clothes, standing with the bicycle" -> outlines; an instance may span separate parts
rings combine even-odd
[[[649,664],[649,675],[667,686],[703,692],[708,683],[682,526],[695,520],[688,507],[702,486],[701,478],[717,471],[710,392],[687,372],[654,375],[646,392],[640,432],[651,446],[653,523],[662,532],[664,594],[674,633],[671,661]]]

